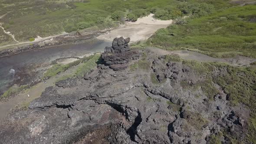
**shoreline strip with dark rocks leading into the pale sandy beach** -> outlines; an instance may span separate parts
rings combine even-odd
[[[50,46],[59,46],[62,44],[76,43],[79,40],[97,38],[112,42],[115,37],[130,37],[131,42],[135,43],[143,41],[152,36],[158,29],[165,28],[173,23],[173,20],[156,20],[154,14],[139,18],[136,22],[125,22],[124,25],[119,25],[113,29],[92,30],[83,29],[81,34],[75,32],[64,33],[56,36],[48,36],[45,38],[36,39],[34,42],[21,42],[18,44],[0,46],[0,58],[12,56],[20,52],[32,50],[40,50],[49,48]],[[24,45],[24,46],[22,46]],[[2,48],[2,49],[1,49]]]

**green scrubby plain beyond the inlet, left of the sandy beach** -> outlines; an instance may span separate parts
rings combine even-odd
[[[1,19],[3,26],[16,39],[26,41],[31,37],[69,33],[88,27],[117,27],[118,23],[124,22],[126,14],[132,14],[136,20],[148,15],[152,7],[177,3],[175,0],[1,0],[0,16],[9,12]]]

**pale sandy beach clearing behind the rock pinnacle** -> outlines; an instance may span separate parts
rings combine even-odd
[[[112,41],[115,37],[130,37],[131,42],[146,40],[158,29],[165,28],[173,23],[173,20],[155,20],[154,14],[139,18],[136,22],[127,22],[123,28],[113,29],[109,33],[98,36],[98,39]]]

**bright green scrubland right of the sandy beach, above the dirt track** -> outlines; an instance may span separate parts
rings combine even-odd
[[[148,40],[148,45],[164,49],[185,47],[213,57],[256,58],[256,23],[250,21],[251,17],[256,17],[254,13],[256,5],[193,15],[185,19],[186,23],[159,29]]]

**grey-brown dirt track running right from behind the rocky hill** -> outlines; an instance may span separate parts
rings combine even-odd
[[[158,55],[177,54],[181,56],[182,59],[192,59],[200,62],[225,62],[233,66],[249,66],[251,62],[256,61],[256,59],[245,56],[236,56],[235,58],[213,58],[198,52],[192,52],[188,50],[168,51],[155,47],[150,47],[148,49],[150,49],[151,52],[157,53]]]

